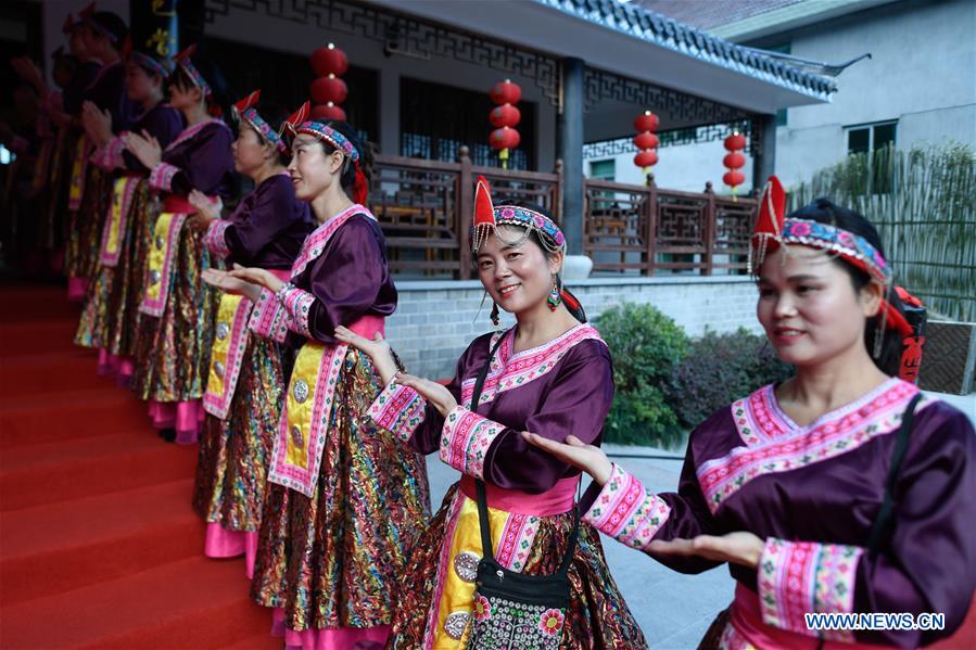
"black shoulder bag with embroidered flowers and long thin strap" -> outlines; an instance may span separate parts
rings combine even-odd
[[[504,336],[503,336],[504,339]],[[474,382],[471,410],[478,408],[481,390],[492,358],[502,339]],[[580,513],[573,510],[573,533],[559,569],[553,575],[525,575],[502,566],[494,558],[489,524],[487,498],[482,481],[478,487],[478,520],[484,557],[478,562],[474,611],[468,648],[478,650],[557,650],[569,608],[570,585],[567,573],[576,550]]]

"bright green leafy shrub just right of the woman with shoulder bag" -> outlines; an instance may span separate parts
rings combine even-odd
[[[688,337],[650,305],[625,303],[605,311],[596,327],[613,357],[616,397],[606,441],[671,447],[684,429],[664,390],[685,356]]]

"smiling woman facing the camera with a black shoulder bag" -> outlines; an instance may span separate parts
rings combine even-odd
[[[492,635],[512,625],[519,648],[575,650],[594,639],[605,648],[645,648],[598,534],[576,526],[580,472],[520,435],[528,430],[560,443],[575,435],[598,445],[613,399],[607,346],[559,280],[562,231],[537,207],[493,206],[479,179],[472,242],[493,316],[500,307],[517,324],[476,339],[446,387],[397,371],[381,336],[335,332],[372,359],[386,385],[369,409],[373,421],[461,473],[411,548],[388,647],[490,647]],[[536,597],[548,588],[554,598],[506,600],[479,577],[489,568],[492,575],[517,574],[503,582],[528,581]],[[568,586],[553,595],[543,581]],[[510,620],[519,612],[533,612],[528,625]]]

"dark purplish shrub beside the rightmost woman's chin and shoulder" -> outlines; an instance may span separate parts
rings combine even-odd
[[[723,406],[793,374],[776,357],[765,336],[748,330],[706,332],[692,341],[664,388],[679,422],[694,429]]]

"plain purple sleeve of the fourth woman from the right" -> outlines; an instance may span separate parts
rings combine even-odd
[[[304,215],[290,180],[268,179],[255,192],[246,217],[232,218],[224,231],[230,257],[244,266],[251,266],[262,248],[271,244],[281,231],[301,221]]]

